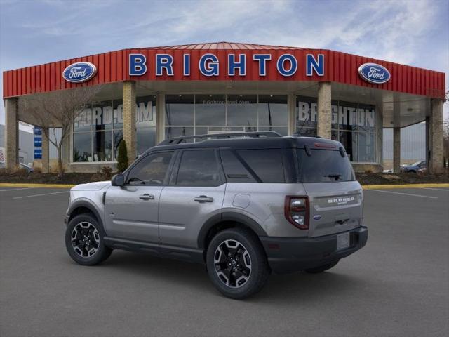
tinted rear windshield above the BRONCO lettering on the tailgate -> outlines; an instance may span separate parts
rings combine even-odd
[[[298,149],[297,160],[302,183],[355,180],[347,155],[342,157],[338,150],[311,149],[309,156],[304,149]]]

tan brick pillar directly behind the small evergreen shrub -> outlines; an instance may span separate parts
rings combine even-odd
[[[137,157],[135,135],[135,81],[123,82],[123,140],[128,149],[128,164]]]

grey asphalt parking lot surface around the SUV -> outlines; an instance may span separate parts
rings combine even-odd
[[[201,265],[69,258],[68,190],[0,188],[0,336],[449,336],[449,189],[366,190],[368,244],[225,298]]]

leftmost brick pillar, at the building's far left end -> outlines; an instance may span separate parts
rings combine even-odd
[[[17,98],[5,100],[5,159],[6,170],[14,171],[19,164],[19,121]]]

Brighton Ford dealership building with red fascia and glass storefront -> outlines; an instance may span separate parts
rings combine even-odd
[[[21,99],[100,86],[65,140],[67,171],[114,167],[121,139],[132,161],[166,138],[244,131],[339,140],[356,171],[382,171],[383,128],[393,129],[398,171],[401,128],[422,121],[429,170],[443,169],[443,72],[326,49],[220,42],[123,49],[3,75],[8,168],[18,163],[18,121],[36,125]],[[46,171],[45,136],[39,153]]]

